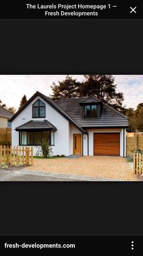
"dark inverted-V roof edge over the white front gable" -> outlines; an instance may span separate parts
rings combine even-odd
[[[35,92],[35,94],[33,94],[33,96],[30,97],[29,100],[27,100],[26,104],[24,104],[24,106],[20,108],[9,121],[12,122],[19,115],[19,113],[21,113],[24,110],[24,108],[26,108],[30,104],[30,102],[32,102],[32,100],[34,100],[37,96],[41,97],[47,102],[47,104],[55,108],[55,110],[57,110],[58,113],[64,116],[68,121],[72,122],[72,124],[74,124],[74,126],[77,127],[77,129],[80,130],[82,133],[87,133],[86,130],[82,129],[82,127],[74,119],[72,119],[71,116],[69,116],[68,113],[66,113],[66,111],[63,110],[63,108],[60,107],[60,105],[56,104],[54,100],[50,99],[49,97],[45,96],[44,94],[38,91]]]

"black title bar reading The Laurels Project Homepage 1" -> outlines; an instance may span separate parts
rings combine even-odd
[[[27,0],[2,2],[0,19],[103,20],[143,19],[142,1]]]

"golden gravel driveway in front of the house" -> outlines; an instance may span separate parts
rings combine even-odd
[[[33,166],[27,167],[26,170],[137,181],[137,176],[133,174],[130,165],[123,157],[84,156],[77,159],[66,157],[61,159],[34,159]]]

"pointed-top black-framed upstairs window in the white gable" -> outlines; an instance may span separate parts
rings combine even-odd
[[[37,100],[32,105],[32,118],[45,118],[45,116],[46,105],[41,100]]]

